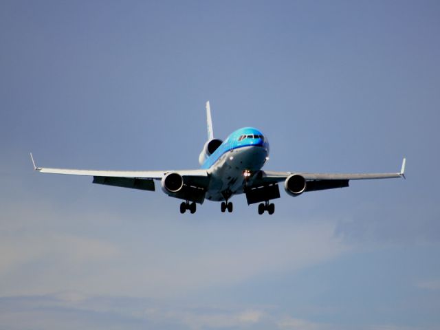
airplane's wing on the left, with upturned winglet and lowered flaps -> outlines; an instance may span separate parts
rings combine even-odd
[[[84,175],[94,177],[94,184],[105,184],[107,186],[154,191],[153,179],[161,180],[171,172],[181,175],[187,186],[206,189],[209,184],[206,170],[76,170],[70,168],[39,167],[35,165],[32,153],[30,157],[34,170],[40,173]]]

